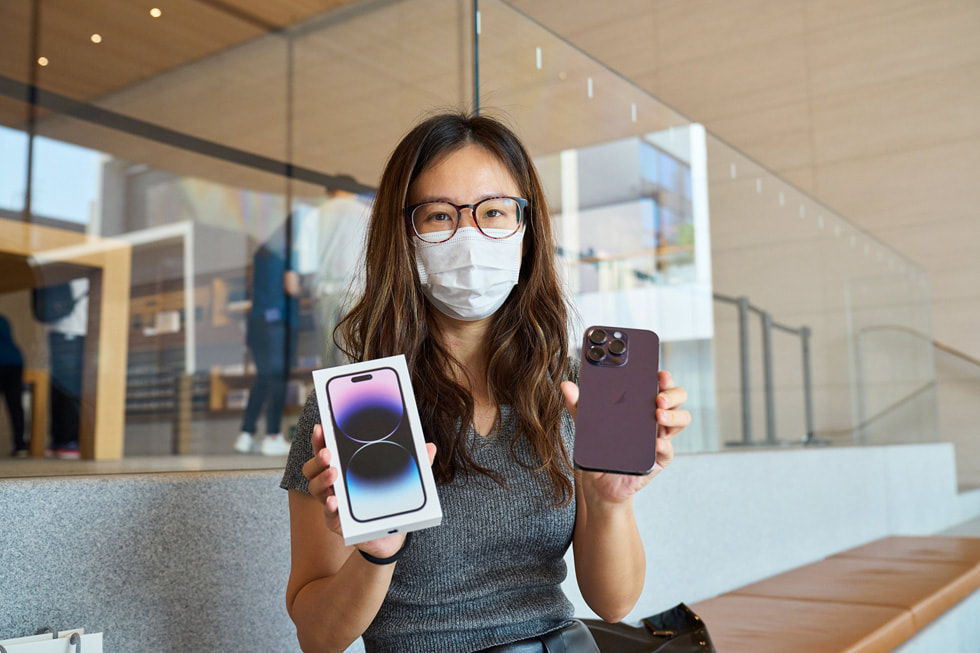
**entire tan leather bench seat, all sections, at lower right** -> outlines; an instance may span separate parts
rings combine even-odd
[[[877,653],[978,588],[980,538],[896,536],[691,607],[719,653]]]

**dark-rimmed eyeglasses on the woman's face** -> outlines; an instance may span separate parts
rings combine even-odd
[[[488,197],[476,204],[422,202],[405,207],[415,235],[427,243],[442,243],[459,229],[463,209],[469,209],[477,229],[487,238],[509,238],[524,228],[527,200],[523,197]]]

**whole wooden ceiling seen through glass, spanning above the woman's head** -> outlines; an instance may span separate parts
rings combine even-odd
[[[373,186],[420,116],[472,105],[471,6],[5,0],[0,74],[122,118],[100,123],[42,108],[36,133],[43,136],[236,187],[286,191],[281,174],[249,157]],[[686,122],[506,5],[482,2],[481,16],[481,104],[517,126],[532,153]],[[37,65],[41,56],[46,66]],[[0,97],[0,124],[23,128],[27,117],[25,103]],[[206,146],[195,151],[188,139]],[[323,192],[296,181],[289,190]]]

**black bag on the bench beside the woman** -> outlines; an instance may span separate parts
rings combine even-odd
[[[582,621],[602,653],[717,653],[708,627],[683,603],[643,619],[642,626]]]

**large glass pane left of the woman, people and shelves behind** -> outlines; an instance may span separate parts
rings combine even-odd
[[[472,26],[452,0],[5,3],[0,314],[24,361],[29,459],[0,475],[280,467],[263,435],[288,440],[310,371],[337,362],[329,332],[387,155],[420,116],[472,103]],[[129,252],[121,301],[102,268],[51,273],[60,233]],[[77,300],[67,334],[68,317],[33,310],[36,288],[62,282]],[[103,378],[110,349],[120,364]],[[281,387],[262,386],[271,376]],[[262,405],[238,453],[267,390],[284,417]]]

